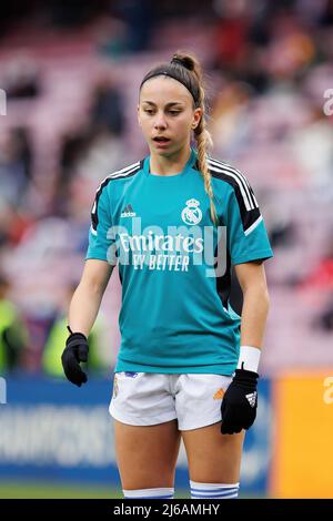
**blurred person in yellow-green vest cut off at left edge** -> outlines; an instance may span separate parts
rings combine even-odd
[[[21,366],[28,331],[16,305],[11,302],[10,283],[0,275],[0,374]]]

